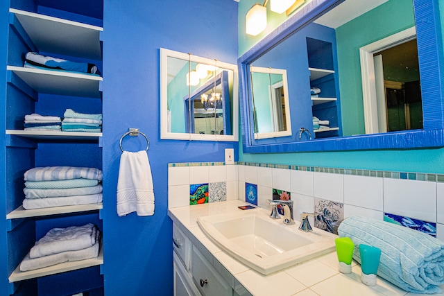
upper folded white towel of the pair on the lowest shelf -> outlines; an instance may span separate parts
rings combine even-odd
[[[76,251],[91,247],[96,243],[96,225],[53,228],[49,230],[29,251],[31,259],[67,251]]]

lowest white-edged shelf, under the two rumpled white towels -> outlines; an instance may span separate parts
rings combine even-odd
[[[88,268],[91,266],[103,264],[103,245],[101,244],[101,250],[99,256],[92,259],[69,261],[59,263],[56,265],[48,266],[46,268],[40,268],[36,270],[20,271],[20,265],[15,268],[9,277],[9,282],[24,281],[25,279],[34,279],[35,277],[44,277],[45,275],[55,275],[61,272],[67,272],[71,270],[78,270],[82,268]]]

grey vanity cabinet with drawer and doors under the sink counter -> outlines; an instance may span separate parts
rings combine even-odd
[[[174,295],[250,296],[191,232],[173,223]]]

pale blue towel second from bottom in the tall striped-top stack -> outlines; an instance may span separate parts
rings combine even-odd
[[[39,189],[39,188],[24,188],[23,192],[25,197],[28,199],[37,198],[64,198],[67,196],[74,195],[91,195],[102,193],[102,185],[89,186],[89,187],[78,187],[78,188],[67,188],[67,189]]]

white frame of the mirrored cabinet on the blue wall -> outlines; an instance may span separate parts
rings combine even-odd
[[[202,58],[188,53],[170,49],[160,49],[160,139],[200,140],[200,141],[239,141],[239,73],[235,64],[216,61],[217,67],[233,71],[232,80],[232,134],[191,134],[187,132],[168,131],[168,58],[214,65],[215,60]],[[183,97],[180,98],[183,101]],[[185,125],[185,123],[184,123]]]

